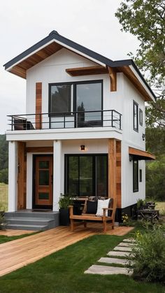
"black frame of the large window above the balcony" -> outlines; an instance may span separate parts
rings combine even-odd
[[[103,110],[103,80],[83,80],[83,81],[73,81],[73,82],[66,82],[66,83],[49,83],[48,84],[48,114],[49,116],[53,117],[53,113],[50,112],[51,110],[51,86],[53,85],[73,85],[73,105],[71,105],[71,108],[73,108],[73,112],[76,112],[76,85],[85,85],[85,84],[91,84],[91,83],[101,83],[101,112]],[[73,107],[72,107],[73,106]],[[103,114],[101,114],[101,117],[103,119]]]

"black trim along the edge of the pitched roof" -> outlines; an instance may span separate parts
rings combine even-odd
[[[136,70],[136,72],[138,73],[138,75],[143,80],[143,82],[145,83],[146,87],[148,87],[150,94],[152,94],[152,96],[155,98],[155,101],[156,101],[156,96],[155,96],[154,92],[152,92],[150,86],[145,81],[145,78],[143,77],[141,72],[138,70],[136,64],[134,63],[134,61],[132,59],[112,61],[111,59],[108,59],[108,58],[104,57],[103,55],[100,55],[92,50],[85,48],[82,45],[79,45],[78,43],[75,43],[75,42],[69,40],[69,38],[65,38],[64,36],[59,35],[57,33],[57,31],[52,31],[48,36],[43,38],[38,43],[32,45],[30,48],[28,48],[27,50],[22,52],[20,55],[17,55],[15,58],[11,59],[9,62],[4,64],[3,66],[5,67],[5,69],[8,69],[10,66],[19,62],[22,58],[26,57],[27,55],[31,54],[32,52],[41,48],[43,45],[46,45],[47,43],[49,43],[52,40],[57,40],[57,41],[63,43],[64,45],[68,45],[69,47],[71,47],[75,50],[78,50],[79,52],[82,52],[83,54],[85,54],[89,57],[92,57],[93,59],[98,60],[99,62],[105,64],[106,66],[117,67],[117,66],[130,66],[130,65],[132,65],[134,67],[134,69]]]

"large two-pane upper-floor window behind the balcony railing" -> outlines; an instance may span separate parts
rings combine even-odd
[[[53,113],[61,112],[65,115],[66,113],[73,115],[74,112],[77,127],[101,126],[102,110],[102,80],[49,85],[49,112],[52,113],[51,117],[53,117]]]

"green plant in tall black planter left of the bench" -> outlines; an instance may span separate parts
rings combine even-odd
[[[69,226],[69,206],[73,204],[73,198],[69,194],[61,194],[59,198],[59,224]]]

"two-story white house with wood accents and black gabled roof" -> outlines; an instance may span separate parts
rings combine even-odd
[[[145,101],[155,101],[134,62],[52,31],[4,66],[27,80],[26,113],[11,115],[6,131],[8,212],[58,212],[68,193],[115,196],[118,219],[132,213],[145,198],[145,159],[154,159],[145,151]]]

